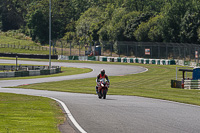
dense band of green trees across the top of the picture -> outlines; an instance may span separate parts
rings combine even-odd
[[[0,29],[48,42],[48,0],[1,0]],[[52,40],[200,42],[200,0],[52,0]]]

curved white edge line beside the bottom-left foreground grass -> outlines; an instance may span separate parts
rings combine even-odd
[[[71,120],[71,122],[74,124],[74,126],[81,132],[81,133],[87,133],[79,124],[78,122],[74,119],[74,117],[72,116],[71,112],[69,111],[69,109],[67,108],[67,106],[60,100],[56,99],[56,98],[52,98],[49,97],[57,102],[59,102],[61,104],[61,106],[63,107],[63,109],[65,110],[67,116],[69,117],[69,119]]]

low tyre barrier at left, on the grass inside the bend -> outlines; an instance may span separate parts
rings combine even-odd
[[[52,66],[51,69],[48,66],[23,66],[18,68],[18,71],[14,71],[16,66],[0,66],[0,78],[9,77],[26,77],[26,76],[38,76],[38,75],[49,75],[61,72],[61,67]],[[8,70],[11,70],[9,72]]]

